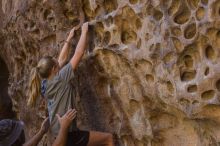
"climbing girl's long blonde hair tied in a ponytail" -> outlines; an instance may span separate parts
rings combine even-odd
[[[54,65],[56,65],[56,62],[53,58],[51,56],[45,56],[38,62],[37,67],[31,70],[28,90],[28,106],[33,107],[36,105],[36,100],[41,92],[41,78],[48,78]]]

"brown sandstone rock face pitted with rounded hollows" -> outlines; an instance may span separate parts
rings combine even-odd
[[[84,13],[93,25],[74,81],[80,127],[121,146],[220,144],[219,0],[0,1],[0,55],[29,136],[45,115],[25,105],[30,70]]]

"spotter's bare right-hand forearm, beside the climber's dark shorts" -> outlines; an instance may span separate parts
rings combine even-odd
[[[64,146],[68,135],[68,128],[61,127],[58,136],[52,146]]]

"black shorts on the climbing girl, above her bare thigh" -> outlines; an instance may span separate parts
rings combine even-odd
[[[68,133],[66,146],[87,146],[89,131],[73,131]]]

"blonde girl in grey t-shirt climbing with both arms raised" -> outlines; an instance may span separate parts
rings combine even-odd
[[[54,137],[57,136],[60,128],[56,114],[64,115],[69,108],[75,108],[75,90],[70,84],[70,80],[74,78],[74,70],[77,68],[85,50],[88,22],[82,25],[82,32],[75,53],[65,65],[70,52],[69,43],[74,36],[75,29],[76,28],[73,28],[70,31],[58,60],[51,56],[43,57],[31,72],[28,104],[35,104],[36,98],[39,97],[40,93],[47,99],[51,132]],[[44,79],[42,89],[40,88],[40,79]],[[113,138],[109,133],[79,130],[76,125],[76,120],[74,120],[69,128],[67,145],[112,146]]]

